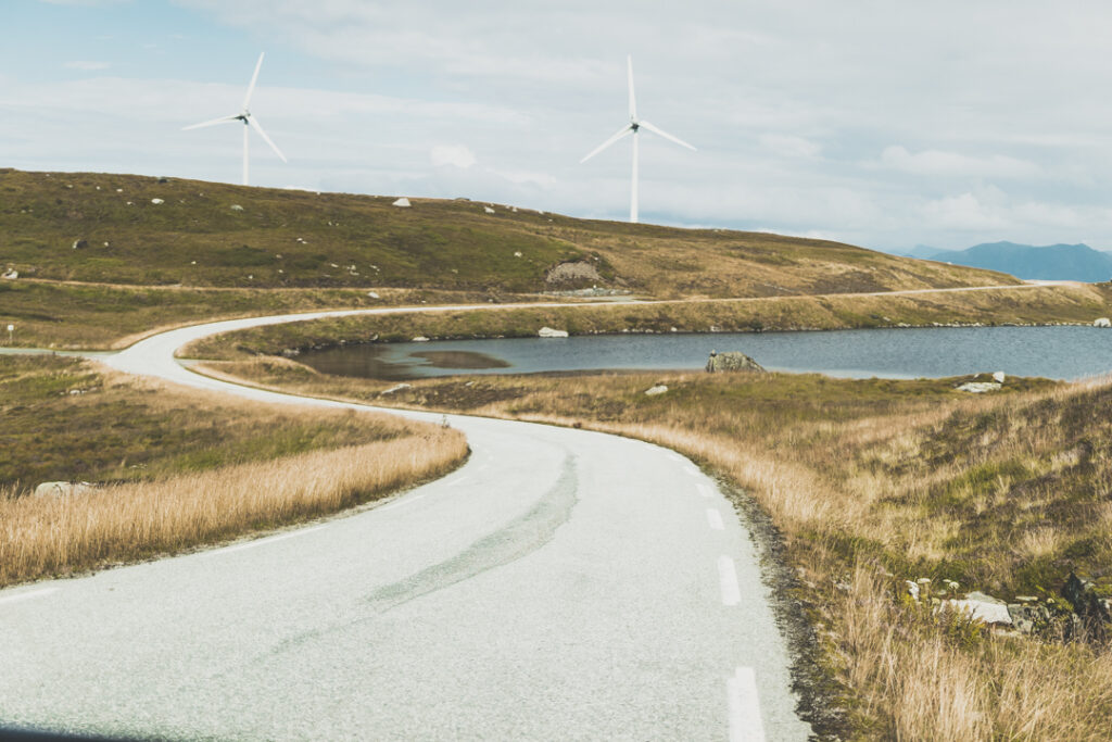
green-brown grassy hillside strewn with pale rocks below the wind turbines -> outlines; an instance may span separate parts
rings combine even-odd
[[[156,200],[160,202],[156,202]],[[0,170],[0,269],[198,287],[425,287],[780,296],[1015,283],[848,245],[586,221],[468,200]],[[566,280],[554,268],[579,263]]]

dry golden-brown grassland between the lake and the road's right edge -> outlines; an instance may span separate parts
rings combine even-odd
[[[994,635],[901,600],[904,580],[1003,598],[1053,594],[1112,564],[1112,383],[1010,380],[995,397],[946,380],[692,374],[336,379],[224,366],[319,395],[579,424],[681,451],[742,485],[783,534],[830,675],[847,689],[830,735],[1106,740],[1112,653]],[[645,397],[656,383],[665,395]]]

